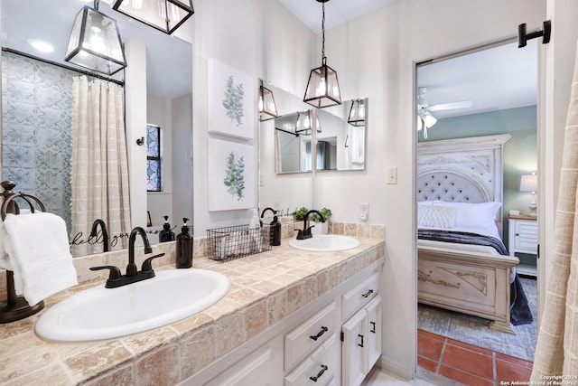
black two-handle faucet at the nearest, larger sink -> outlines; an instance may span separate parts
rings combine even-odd
[[[153,259],[164,256],[164,253],[151,256],[145,259],[143,266],[139,271],[135,264],[135,241],[136,236],[140,235],[144,242],[144,254],[152,253],[151,243],[146,237],[146,231],[142,227],[136,227],[130,232],[128,239],[128,265],[126,266],[126,275],[121,275],[120,269],[114,266],[91,267],[90,270],[108,269],[110,274],[107,279],[107,288],[116,288],[126,286],[127,284],[136,283],[137,281],[145,280],[147,278],[154,278],[154,269],[152,266]]]

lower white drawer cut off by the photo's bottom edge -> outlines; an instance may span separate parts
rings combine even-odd
[[[340,369],[340,346],[333,333],[284,379],[285,386],[331,384]]]

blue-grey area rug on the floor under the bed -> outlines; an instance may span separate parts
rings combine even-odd
[[[497,353],[534,362],[537,339],[537,286],[536,279],[521,278],[534,322],[530,325],[514,325],[516,334],[490,330],[489,320],[464,315],[434,306],[417,306],[417,328],[428,333],[442,335],[466,344],[487,348]]]

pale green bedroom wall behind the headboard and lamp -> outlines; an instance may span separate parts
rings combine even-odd
[[[508,247],[508,212],[529,212],[531,193],[520,193],[520,175],[537,170],[537,109],[536,106],[509,108],[488,113],[443,118],[428,130],[418,133],[419,142],[442,139],[494,136],[511,134],[504,145],[504,231],[503,240]],[[537,201],[537,198],[536,198]]]

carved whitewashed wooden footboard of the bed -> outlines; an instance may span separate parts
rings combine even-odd
[[[420,303],[491,320],[489,327],[514,334],[510,324],[510,268],[513,256],[418,247]]]

